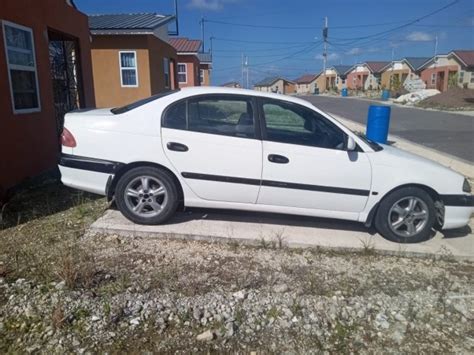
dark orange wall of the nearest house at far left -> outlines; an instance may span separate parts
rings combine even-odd
[[[0,195],[28,177],[56,167],[59,153],[50,76],[48,29],[78,38],[83,106],[94,106],[87,16],[64,0],[1,0],[0,20],[33,30],[41,111],[13,114],[3,29],[0,26]],[[0,196],[1,198],[1,196]]]

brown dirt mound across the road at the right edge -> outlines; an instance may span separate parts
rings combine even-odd
[[[417,106],[440,110],[471,111],[474,110],[474,90],[451,88],[420,101]]]

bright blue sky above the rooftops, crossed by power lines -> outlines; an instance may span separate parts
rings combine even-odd
[[[75,3],[86,14],[174,13],[174,0]],[[267,76],[318,73],[326,16],[328,66],[474,49],[473,0],[178,0],[178,9],[180,37],[201,39],[204,18],[213,85],[241,82],[242,56],[251,85]]]

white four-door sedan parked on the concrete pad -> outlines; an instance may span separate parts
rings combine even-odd
[[[189,88],[68,113],[65,185],[115,199],[139,224],[178,206],[372,223],[396,242],[463,227],[473,212],[460,174],[357,135],[311,103],[229,88]]]

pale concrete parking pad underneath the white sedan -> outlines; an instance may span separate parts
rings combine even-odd
[[[90,228],[91,234],[123,237],[249,243],[290,248],[333,248],[351,251],[375,250],[402,256],[436,256],[474,260],[474,229],[436,233],[417,244],[398,244],[382,238],[361,223],[268,213],[187,209],[164,225],[137,225],[116,210],[109,210]]]

